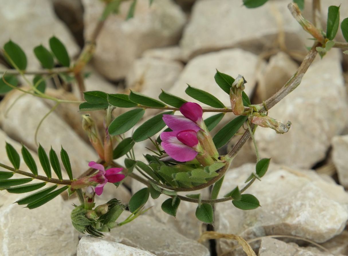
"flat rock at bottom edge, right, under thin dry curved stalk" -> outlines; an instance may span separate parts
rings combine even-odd
[[[299,247],[274,238],[262,238],[259,256],[333,256],[315,247]],[[335,254],[336,255],[336,254]]]

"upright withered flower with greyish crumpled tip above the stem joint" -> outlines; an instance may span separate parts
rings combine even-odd
[[[244,77],[242,75],[238,75],[230,90],[231,109],[236,116],[239,116],[244,112],[242,91],[245,89],[245,83],[246,81]]]

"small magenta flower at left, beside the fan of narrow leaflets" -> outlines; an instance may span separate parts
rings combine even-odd
[[[99,170],[99,172],[93,176],[95,179],[94,181],[99,183],[95,187],[95,193],[97,195],[103,193],[104,186],[107,182],[115,183],[125,178],[124,174],[119,174],[119,172],[122,171],[122,168],[110,168],[105,170],[102,164],[97,164],[94,161],[89,162],[88,166]]]

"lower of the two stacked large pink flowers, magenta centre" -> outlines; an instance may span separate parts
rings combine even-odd
[[[160,138],[165,152],[176,161],[191,161],[198,154],[198,139],[195,130],[162,132]]]

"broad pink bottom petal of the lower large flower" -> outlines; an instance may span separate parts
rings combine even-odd
[[[162,141],[161,146],[165,152],[174,160],[179,162],[187,162],[195,159],[197,152],[182,143],[171,143]]]

